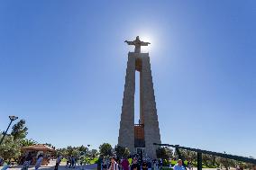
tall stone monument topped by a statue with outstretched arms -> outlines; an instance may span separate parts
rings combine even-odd
[[[136,40],[124,42],[135,46],[135,49],[128,53],[118,145],[129,148],[131,153],[142,152],[146,157],[156,158],[157,147],[153,143],[160,143],[160,129],[151,62],[149,53],[141,53],[141,46],[151,43],[143,42],[139,36]],[[140,72],[139,124],[134,124],[135,71]]]

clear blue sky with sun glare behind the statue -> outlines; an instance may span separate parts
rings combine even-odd
[[[162,143],[256,157],[256,2],[0,1],[0,130],[115,145],[127,53],[151,40]]]

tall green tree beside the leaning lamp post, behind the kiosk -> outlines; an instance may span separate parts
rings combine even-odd
[[[14,136],[14,140],[26,138],[28,128],[25,126],[25,123],[25,120],[21,120],[14,124],[11,132],[11,135]]]

